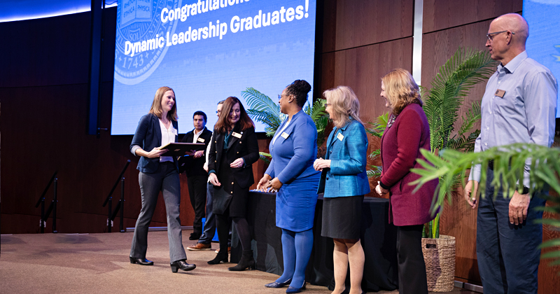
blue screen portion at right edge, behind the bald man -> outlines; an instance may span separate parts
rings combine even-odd
[[[560,78],[560,1],[524,0],[523,17],[529,24],[527,54],[547,66],[558,80]],[[556,107],[556,118],[559,117],[560,108]]]

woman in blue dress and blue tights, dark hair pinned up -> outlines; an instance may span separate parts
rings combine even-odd
[[[286,293],[305,288],[305,268],[313,248],[313,221],[321,174],[313,168],[317,155],[317,128],[302,111],[311,85],[295,80],[279,95],[280,111],[288,119],[280,125],[269,150],[272,155],[257,189],[278,191],[276,226],[282,229],[283,274],[268,288],[290,285]]]

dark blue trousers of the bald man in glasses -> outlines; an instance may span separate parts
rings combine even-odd
[[[484,294],[534,293],[538,288],[538,264],[542,242],[542,218],[546,200],[533,195],[527,219],[512,225],[509,218],[510,199],[503,190],[491,187],[493,170],[486,176],[486,197],[479,200],[477,214],[477,260]]]

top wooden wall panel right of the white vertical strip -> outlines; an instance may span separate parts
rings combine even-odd
[[[521,11],[523,0],[424,0],[424,34]],[[487,28],[486,28],[487,29]]]

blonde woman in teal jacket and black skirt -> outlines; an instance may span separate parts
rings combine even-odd
[[[360,223],[363,195],[370,193],[365,173],[367,136],[358,116],[358,97],[350,87],[338,86],[326,90],[323,95],[335,128],[327,140],[325,159],[315,160],[314,168],[322,171],[317,191],[324,193],[321,236],[335,241],[332,254],[335,290],[332,293],[345,290],[348,264],[349,293],[362,293],[360,284],[365,257],[360,243]]]

